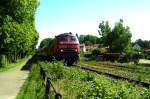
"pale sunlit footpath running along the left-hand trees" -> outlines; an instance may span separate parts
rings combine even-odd
[[[29,71],[22,71],[25,65],[0,73],[0,99],[15,99]]]

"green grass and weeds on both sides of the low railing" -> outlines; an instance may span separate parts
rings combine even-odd
[[[114,80],[79,67],[67,67],[61,62],[40,62],[62,99],[149,99],[150,89]],[[44,99],[44,85],[39,65],[34,64],[16,99]],[[49,96],[54,99],[51,89]]]

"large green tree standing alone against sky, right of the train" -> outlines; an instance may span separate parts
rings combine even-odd
[[[129,27],[123,26],[123,20],[120,19],[113,29],[110,28],[108,21],[102,21],[99,28],[102,43],[109,47],[110,52],[122,53],[128,49],[132,35]]]

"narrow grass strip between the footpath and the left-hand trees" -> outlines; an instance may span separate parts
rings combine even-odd
[[[26,58],[23,58],[23,59],[18,59],[15,63],[11,63],[11,64],[8,64],[7,66],[5,67],[0,67],[0,72],[4,72],[4,71],[7,71],[11,68],[14,68],[16,66],[19,66],[23,63],[25,63],[30,57],[26,57]]]

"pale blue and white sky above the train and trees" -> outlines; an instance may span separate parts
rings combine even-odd
[[[40,0],[35,26],[39,42],[60,33],[98,34],[101,21],[113,28],[123,19],[132,41],[150,40],[150,0]]]

